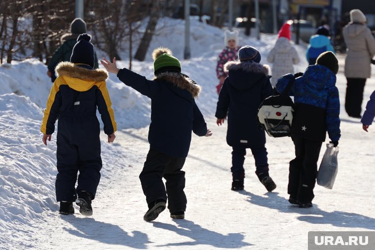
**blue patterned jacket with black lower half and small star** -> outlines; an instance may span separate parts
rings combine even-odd
[[[283,92],[293,74],[280,77],[276,83]],[[325,141],[326,131],[331,141],[340,139],[340,101],[336,75],[327,67],[311,65],[298,77],[291,90],[296,110],[292,123],[292,137],[299,136],[313,141]]]

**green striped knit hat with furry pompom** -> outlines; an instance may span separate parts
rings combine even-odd
[[[154,74],[162,72],[178,72],[181,73],[180,61],[172,55],[172,51],[168,48],[159,47],[152,52],[153,71]]]

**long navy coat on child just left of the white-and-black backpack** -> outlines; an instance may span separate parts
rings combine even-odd
[[[265,134],[257,114],[262,101],[272,95],[269,67],[254,62],[228,62],[228,71],[216,107],[217,118],[228,115],[226,142],[230,146],[263,147]]]

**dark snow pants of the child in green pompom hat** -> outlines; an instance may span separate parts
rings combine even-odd
[[[171,213],[186,210],[185,172],[181,170],[185,160],[150,149],[139,176],[147,204],[159,199],[167,201],[168,197]]]

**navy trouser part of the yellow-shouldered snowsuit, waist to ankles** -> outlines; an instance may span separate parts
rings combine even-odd
[[[74,202],[77,191],[89,192],[95,198],[99,185],[100,126],[95,116],[61,117],[57,132],[57,201]],[[75,188],[75,182],[78,185]]]

